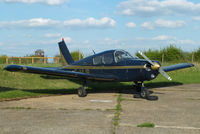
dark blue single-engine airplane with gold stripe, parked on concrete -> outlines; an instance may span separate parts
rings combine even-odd
[[[139,54],[144,59],[131,56],[124,50],[108,50],[92,56],[74,61],[70,52],[62,39],[58,43],[63,67],[43,68],[23,65],[8,65],[4,69],[11,72],[24,72],[45,74],[53,76],[73,77],[83,81],[83,86],[78,88],[78,96],[85,97],[86,81],[109,81],[128,82],[132,81],[136,85],[141,98],[151,99],[149,90],[144,87],[144,81],[155,79],[160,73],[168,80],[172,80],[166,72],[193,67],[193,64],[182,63],[162,67],[158,61],[150,60],[142,52]]]

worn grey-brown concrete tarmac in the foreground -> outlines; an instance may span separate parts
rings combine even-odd
[[[200,84],[150,89],[157,101],[131,93],[91,93],[0,102],[0,134],[199,134]],[[116,105],[122,95],[119,122]],[[139,128],[151,122],[154,128]]]

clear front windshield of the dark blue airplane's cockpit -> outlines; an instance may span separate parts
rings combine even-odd
[[[137,58],[131,56],[128,52],[120,50],[120,51],[115,51],[115,60],[116,62],[125,60],[125,59],[130,59],[130,58]]]

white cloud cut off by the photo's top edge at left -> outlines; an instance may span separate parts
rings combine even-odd
[[[27,4],[34,4],[34,3],[42,3],[47,5],[60,5],[64,2],[68,2],[68,0],[2,0],[6,3],[27,3]]]

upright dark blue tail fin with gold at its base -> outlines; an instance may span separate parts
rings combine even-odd
[[[74,60],[69,52],[69,49],[67,48],[65,41],[62,40],[58,43],[59,49],[60,49],[60,56],[62,60],[63,65],[72,64],[74,63]]]

